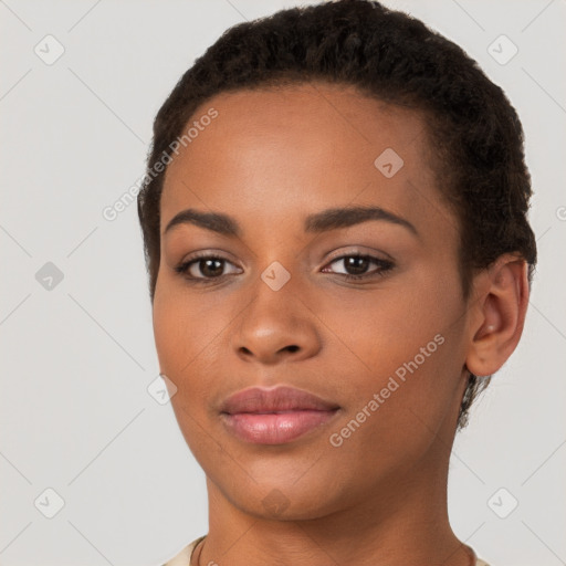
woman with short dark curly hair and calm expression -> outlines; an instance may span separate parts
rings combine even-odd
[[[530,197],[501,88],[377,2],[242,23],[196,61],[138,199],[209,497],[169,566],[485,565],[449,524],[448,467],[523,331]]]

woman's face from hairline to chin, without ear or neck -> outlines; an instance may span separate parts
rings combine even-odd
[[[167,169],[154,298],[190,450],[226,501],[261,516],[313,518],[430,481],[468,335],[457,220],[423,118],[323,83],[221,94],[193,119],[210,108]],[[358,208],[374,211],[342,210]],[[167,229],[187,209],[230,222]],[[280,385],[337,409],[298,419],[311,427],[295,438],[296,413],[280,415],[283,436],[237,434],[227,398]]]

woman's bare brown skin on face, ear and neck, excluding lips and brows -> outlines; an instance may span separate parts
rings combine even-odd
[[[468,566],[447,511],[465,366],[490,375],[515,348],[525,263],[500,258],[464,301],[458,221],[437,187],[417,112],[325,83],[223,93],[193,117],[210,107],[218,117],[166,172],[154,300],[160,370],[178,388],[171,403],[207,475],[209,533],[192,564]],[[405,161],[391,178],[374,166],[388,147]],[[418,235],[382,220],[304,232],[307,214],[353,205],[402,217]],[[230,214],[241,237],[188,223],[164,234],[187,208]],[[197,251],[227,259],[216,280],[193,264],[191,273],[211,284],[175,271]],[[356,271],[336,258],[355,252],[392,259],[395,268],[346,282]],[[291,275],[279,291],[261,279],[274,261]],[[366,272],[377,269],[368,263]],[[443,344],[333,447],[331,434],[438,334]],[[340,411],[286,444],[230,434],[220,403],[276,384]],[[263,503],[270,493],[279,507]]]

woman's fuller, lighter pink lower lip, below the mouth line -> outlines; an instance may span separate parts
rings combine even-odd
[[[253,444],[284,444],[328,422],[338,411],[295,410],[277,413],[222,413],[227,427]]]

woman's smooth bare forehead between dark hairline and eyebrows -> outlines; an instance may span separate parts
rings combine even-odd
[[[217,116],[201,119],[211,109]],[[441,206],[423,117],[352,86],[221,93],[184,132],[191,126],[198,134],[166,172],[161,231],[188,207],[250,213],[266,228],[328,206],[379,205],[406,216]]]

